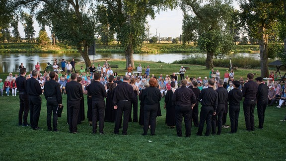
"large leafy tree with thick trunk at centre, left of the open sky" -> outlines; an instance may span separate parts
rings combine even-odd
[[[99,0],[106,7],[110,29],[116,31],[117,40],[125,51],[126,69],[133,68],[133,53],[141,48],[145,37],[145,22],[149,15],[166,8],[173,8],[176,0]]]

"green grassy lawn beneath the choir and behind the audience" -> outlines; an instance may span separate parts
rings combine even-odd
[[[170,58],[171,59],[171,58]],[[98,61],[103,64],[104,60]],[[96,62],[96,64],[98,63]],[[164,64],[153,62],[135,62],[136,66],[150,65],[150,74],[170,75],[178,72],[179,64]],[[113,69],[119,75],[126,71],[125,61],[109,60],[109,64],[119,64],[119,69]],[[80,64],[76,66],[79,69]],[[204,66],[188,65],[188,76],[209,76],[209,70]],[[214,68],[224,73],[225,68]],[[260,70],[238,69],[235,79],[246,78],[247,73]],[[7,74],[0,74],[5,78]],[[128,135],[114,135],[114,123],[105,123],[105,135],[91,135],[92,128],[87,118],[79,124],[78,134],[70,134],[67,125],[67,95],[63,96],[64,113],[59,118],[60,132],[48,132],[46,125],[46,100],[42,95],[42,109],[39,121],[41,130],[33,131],[29,127],[17,126],[19,98],[18,96],[0,97],[0,161],[6,160],[219,160],[219,161],[285,161],[286,160],[286,122],[280,121],[286,115],[286,108],[268,106],[266,109],[264,129],[253,132],[245,131],[245,122],[241,102],[238,132],[228,134],[230,129],[222,129],[220,136],[199,137],[195,133],[198,128],[192,128],[190,138],[178,138],[175,129],[165,125],[164,98],[161,100],[162,116],[157,118],[155,136],[141,136],[142,127],[138,123],[129,123]],[[201,105],[200,105],[201,106]],[[85,116],[87,111],[85,95]],[[29,119],[28,119],[29,122]],[[229,117],[227,124],[230,125]],[[255,125],[258,126],[257,110],[255,110]],[[184,124],[183,124],[184,127]],[[205,126],[206,128],[206,126]],[[122,130],[122,129],[121,129]],[[121,132],[121,131],[120,131]],[[183,128],[183,133],[184,133]],[[204,129],[205,132],[205,129]],[[148,132],[149,134],[150,132]]]

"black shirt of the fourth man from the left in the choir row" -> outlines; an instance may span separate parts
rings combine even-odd
[[[71,80],[66,84],[66,92],[68,95],[68,100],[78,101],[83,97],[82,86],[79,82]]]

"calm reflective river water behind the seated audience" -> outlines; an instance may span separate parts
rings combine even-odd
[[[134,54],[134,60],[136,61],[152,61],[152,62],[164,62],[172,63],[176,60],[182,60],[191,58],[192,56],[206,57],[206,54],[202,53],[160,53],[160,54]],[[230,55],[229,57],[243,56],[253,57],[257,60],[260,59],[259,53],[237,53]],[[0,54],[0,73],[2,72],[19,72],[19,65],[22,62],[27,71],[35,69],[37,62],[40,63],[41,70],[47,67],[47,62],[53,63],[55,59],[58,59],[58,63],[61,59],[71,61],[74,58],[75,62],[83,61],[79,53],[61,53],[61,54],[43,54],[43,53],[5,53]],[[93,56],[89,56],[91,62],[93,62]],[[125,59],[124,53],[96,53],[95,60],[97,59]]]

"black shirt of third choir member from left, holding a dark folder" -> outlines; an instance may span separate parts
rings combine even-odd
[[[53,97],[57,99],[58,104],[62,103],[61,85],[56,80],[48,80],[45,82],[44,94],[46,99]]]

